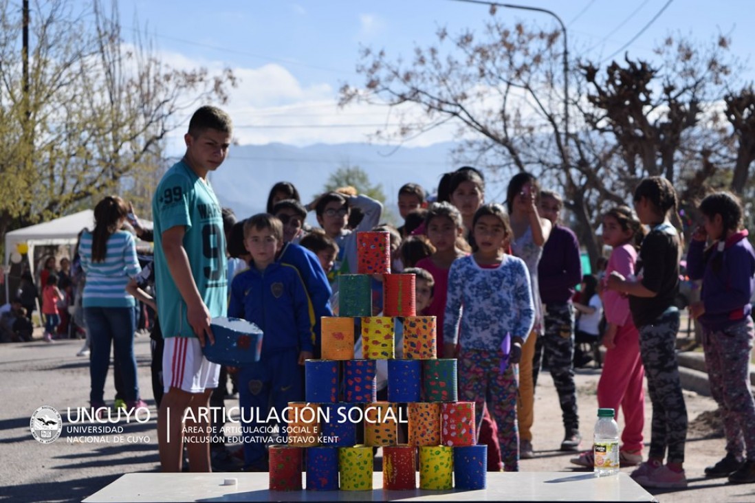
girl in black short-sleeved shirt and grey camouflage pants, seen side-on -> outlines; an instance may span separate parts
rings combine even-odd
[[[629,296],[653,407],[648,461],[630,477],[641,486],[663,489],[687,486],[683,469],[687,409],[676,360],[679,309],[674,305],[679,293],[681,240],[669,222],[677,202],[676,191],[667,179],[650,176],[639,182],[634,209],[639,221],[651,230],[639,249],[636,278],[624,278],[614,271],[606,285]]]

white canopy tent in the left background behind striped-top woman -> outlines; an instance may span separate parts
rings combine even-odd
[[[143,225],[152,227],[152,222],[142,220]],[[67,244],[74,247],[76,239],[82,228],[94,228],[94,210],[83,210],[72,215],[42,222],[29,227],[19,228],[5,235],[5,264],[10,263],[11,253],[16,250],[16,245],[26,243],[29,246],[29,266],[34,274],[33,264],[34,247],[47,245]],[[137,241],[140,244],[140,241]]]

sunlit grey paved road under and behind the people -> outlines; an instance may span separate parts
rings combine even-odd
[[[88,405],[88,359],[76,357],[80,341],[53,344],[30,342],[0,345],[0,500],[2,501],[80,501],[121,474],[158,470],[156,411],[149,385],[149,339],[136,340],[139,380],[143,397],[150,404],[151,418],[144,424],[125,424],[119,434],[94,436],[103,443],[72,442],[77,435],[69,430],[66,409]],[[581,433],[589,439],[596,414],[595,388],[598,370],[578,371]],[[522,461],[525,471],[572,471],[568,453],[559,452],[562,440],[560,410],[556,391],[547,372],[541,374],[535,403],[534,446],[536,458]],[[114,395],[112,373],[106,384],[106,399]],[[686,392],[690,419],[715,409],[713,400]],[[231,402],[228,403],[232,404]],[[53,406],[63,416],[63,434],[54,443],[32,439],[29,419],[39,406]],[[646,407],[650,417],[649,405]],[[649,419],[646,430],[649,430]],[[88,436],[92,437],[92,436]],[[118,437],[123,443],[114,443]],[[141,438],[137,438],[141,437]],[[649,438],[649,431],[646,440]],[[588,442],[583,443],[589,446]],[[723,480],[705,480],[703,468],[723,455],[721,438],[704,438],[690,433],[686,470],[690,488],[686,491],[658,492],[659,501],[755,501],[755,484],[727,486]],[[626,468],[626,471],[630,469]]]

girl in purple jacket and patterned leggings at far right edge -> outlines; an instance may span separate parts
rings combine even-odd
[[[692,235],[687,270],[703,280],[700,302],[689,306],[703,327],[710,392],[718,403],[726,434],[726,457],[705,468],[707,477],[732,483],[755,482],[755,400],[750,391],[755,290],[755,252],[742,229],[736,196],[716,192],[700,204],[703,225]],[[710,238],[712,244],[705,248]],[[747,458],[744,458],[744,449]]]

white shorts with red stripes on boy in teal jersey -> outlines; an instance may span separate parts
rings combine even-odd
[[[168,337],[162,354],[162,386],[167,393],[179,388],[189,393],[203,393],[217,388],[220,365],[211,363],[202,354],[199,339]]]

